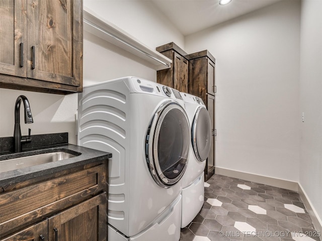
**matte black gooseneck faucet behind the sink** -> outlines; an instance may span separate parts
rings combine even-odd
[[[23,101],[25,106],[25,123],[31,124],[34,122],[30,110],[30,105],[27,97],[25,95],[18,96],[15,105],[15,130],[14,130],[14,149],[15,152],[22,151],[22,144],[31,142],[31,129],[29,129],[28,137],[21,138],[21,130],[20,130],[20,104]]]

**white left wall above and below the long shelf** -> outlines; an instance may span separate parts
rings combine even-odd
[[[151,49],[170,42],[184,48],[184,36],[149,1],[84,0],[84,8],[121,28]],[[115,46],[84,33],[85,86],[123,76],[156,81],[155,70],[133,59],[133,56],[120,52]]]

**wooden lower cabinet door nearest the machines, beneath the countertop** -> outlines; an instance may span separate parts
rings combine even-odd
[[[50,241],[106,240],[106,192],[48,219]]]

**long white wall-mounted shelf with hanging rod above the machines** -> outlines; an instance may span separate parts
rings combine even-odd
[[[120,52],[124,55],[125,50],[125,53],[129,53],[129,56],[138,57],[139,62],[155,70],[171,67],[171,59],[140,43],[114,24],[109,23],[86,8],[84,8],[83,14],[84,31],[117,46],[118,48],[113,49],[114,52],[120,49]]]

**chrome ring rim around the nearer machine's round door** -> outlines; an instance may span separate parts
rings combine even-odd
[[[155,112],[155,114],[152,118],[152,122],[147,130],[146,141],[145,141],[145,145],[147,145],[145,148],[146,162],[147,162],[148,168],[150,170],[150,173],[152,174],[152,177],[155,180],[155,182],[160,187],[164,187],[164,188],[169,188],[172,185],[176,184],[183,176],[183,174],[187,168],[187,164],[188,164],[188,159],[187,159],[183,170],[181,171],[179,176],[174,179],[168,179],[163,174],[161,167],[159,165],[158,153],[157,153],[159,130],[160,130],[160,126],[163,122],[163,119],[165,118],[167,113],[172,109],[179,109],[182,111],[182,113],[184,114],[186,121],[188,123],[188,127],[189,127],[188,116],[186,114],[186,111],[183,109],[183,107],[176,101],[167,100],[164,103],[162,103],[158,107],[157,111]],[[188,148],[188,150],[190,152],[190,148]],[[188,157],[189,157],[189,153],[188,153]]]

